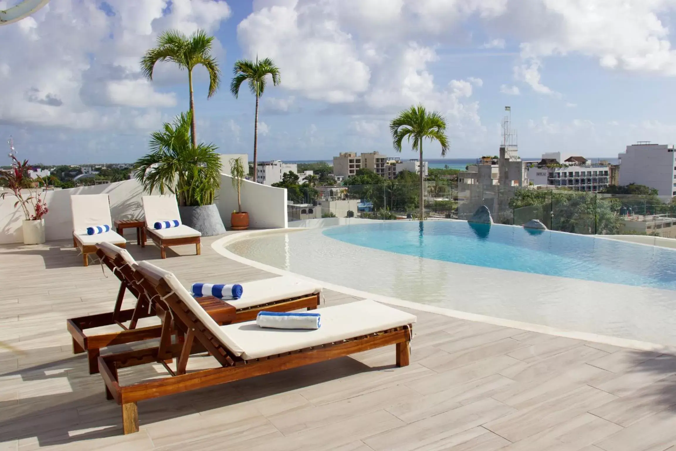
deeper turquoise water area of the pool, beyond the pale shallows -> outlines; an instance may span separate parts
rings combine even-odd
[[[676,290],[676,251],[656,246],[462,221],[355,224],[322,233],[345,243],[445,262]]]

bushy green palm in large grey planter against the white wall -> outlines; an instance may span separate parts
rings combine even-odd
[[[225,226],[214,204],[220,189],[220,156],[213,144],[193,147],[190,126],[191,113],[187,112],[153,132],[151,152],[139,158],[133,170],[147,193],[176,195],[183,224],[203,237],[222,235]]]

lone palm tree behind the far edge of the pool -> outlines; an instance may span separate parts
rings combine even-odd
[[[413,105],[408,110],[402,111],[389,124],[392,134],[392,145],[395,151],[402,151],[404,138],[411,143],[413,151],[420,152],[420,220],[425,219],[425,199],[423,187],[425,174],[423,174],[423,140],[439,141],[441,144],[441,156],[446,155],[450,143],[446,137],[446,119],[439,112],[427,112],[423,105]]]

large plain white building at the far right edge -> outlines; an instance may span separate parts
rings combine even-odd
[[[658,195],[676,195],[676,161],[673,144],[642,142],[628,145],[619,153],[619,185],[646,185]]]

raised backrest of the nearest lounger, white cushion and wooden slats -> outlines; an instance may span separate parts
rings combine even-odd
[[[214,318],[209,316],[209,314],[199,305],[199,302],[197,302],[189,291],[185,289],[178,279],[176,279],[176,276],[172,272],[164,270],[149,262],[139,262],[136,266],[136,270],[151,281],[164,281],[164,283],[166,283],[168,290],[173,292],[173,295],[176,296],[176,300],[180,302],[180,304],[183,304],[186,307],[186,310],[183,310],[183,308],[176,308],[174,302],[170,300],[172,296],[170,293],[163,295],[168,296],[165,299],[166,304],[173,310],[174,314],[179,316],[183,323],[188,327],[195,328],[195,337],[201,341],[207,350],[214,348],[214,342],[210,340],[209,337],[209,335],[212,335],[219,345],[227,349],[228,354],[239,357],[244,353],[244,350],[220,328],[218,323],[214,321]],[[158,284],[158,286],[161,286],[161,284]],[[174,304],[174,306],[172,306],[172,304]],[[191,312],[192,314],[187,314],[188,312]],[[203,327],[200,327],[200,325]],[[209,335],[201,337],[201,334],[197,332],[203,332],[204,329],[209,332]],[[205,338],[208,342],[205,341]],[[221,360],[219,356],[214,355],[214,357]],[[223,362],[221,361],[221,363]]]

